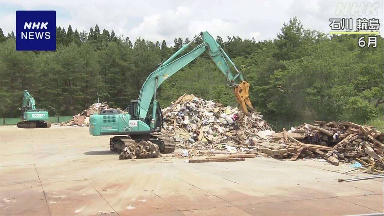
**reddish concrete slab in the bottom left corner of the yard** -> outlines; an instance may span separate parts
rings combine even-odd
[[[50,215],[41,184],[0,186],[0,215]]]

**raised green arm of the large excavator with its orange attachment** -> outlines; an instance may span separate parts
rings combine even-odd
[[[195,47],[189,53],[176,58],[181,52],[183,52],[189,45],[196,40],[198,37],[202,37],[203,42]],[[248,97],[249,83],[247,83],[242,73],[237,70],[235,64],[230,60],[228,55],[220,47],[220,45],[214,40],[214,38],[208,32],[201,32],[200,35],[195,37],[191,42],[185,44],[174,53],[168,60],[164,61],[154,72],[152,72],[147,80],[143,83],[140,90],[137,116],[140,119],[145,119],[148,113],[149,106],[151,101],[153,103],[153,116],[156,115],[156,91],[157,88],[170,76],[174,75],[177,71],[183,68],[185,65],[190,63],[192,60],[200,56],[202,53],[206,52],[209,57],[214,61],[215,65],[218,66],[223,75],[227,78],[226,84],[230,87],[233,87],[233,93],[236,96],[236,99],[245,115],[250,115],[252,113],[253,107]],[[176,58],[176,59],[175,59]],[[235,68],[237,74],[233,76],[228,62]],[[152,100],[153,98],[153,100]],[[249,111],[247,109],[249,108]]]

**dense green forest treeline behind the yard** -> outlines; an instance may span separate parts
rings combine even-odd
[[[360,48],[359,37],[306,30],[292,18],[273,40],[217,42],[243,72],[253,106],[267,119],[367,121],[382,115],[383,38],[377,36],[377,48]],[[70,25],[56,29],[55,52],[20,52],[14,33],[0,29],[0,117],[19,116],[23,90],[52,116],[77,114],[97,102],[97,93],[100,101],[126,108],[149,73],[189,40],[175,38],[169,47],[165,40],[131,41],[98,25],[89,32]],[[206,54],[164,82],[158,99],[165,107],[184,93],[237,106]]]

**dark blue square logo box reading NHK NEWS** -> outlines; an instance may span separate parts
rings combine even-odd
[[[56,50],[56,11],[16,11],[16,50]]]

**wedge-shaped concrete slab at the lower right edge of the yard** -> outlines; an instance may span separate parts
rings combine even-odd
[[[359,206],[365,206],[366,208],[379,212],[384,211],[384,196],[382,194],[368,196],[338,196],[336,198]]]

